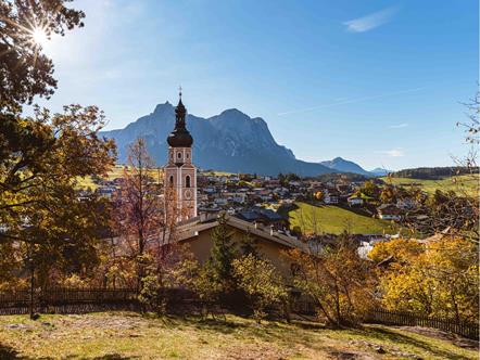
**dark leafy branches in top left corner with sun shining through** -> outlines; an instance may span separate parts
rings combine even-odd
[[[0,1],[0,113],[20,113],[35,95],[50,97],[56,88],[53,63],[35,42],[35,31],[64,35],[81,27],[84,12],[66,0]]]

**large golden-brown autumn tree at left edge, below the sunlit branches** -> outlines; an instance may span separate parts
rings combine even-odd
[[[114,163],[113,141],[98,137],[103,125],[96,106],[79,105],[0,121],[0,262],[16,259],[3,278],[27,267],[33,291],[54,282],[55,271],[96,263],[109,206],[77,189],[80,178],[104,176]]]

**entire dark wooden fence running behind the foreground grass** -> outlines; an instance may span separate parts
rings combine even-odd
[[[224,305],[201,301],[195,294],[180,288],[165,291],[163,296],[168,312],[195,312],[205,306],[219,308]],[[242,300],[242,304],[236,304],[237,309],[240,305],[245,307]],[[28,291],[0,293],[0,316],[28,313],[29,307],[30,293]],[[136,291],[130,288],[50,288],[35,294],[34,309],[43,313],[81,313],[139,310],[140,306]],[[315,316],[316,306],[311,299],[299,298],[293,301],[291,310],[298,314]],[[479,338],[478,324],[409,312],[376,309],[368,314],[366,322],[433,327],[472,339]]]

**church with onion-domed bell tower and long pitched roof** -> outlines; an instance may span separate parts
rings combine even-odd
[[[193,138],[187,129],[187,110],[181,101],[181,91],[175,110],[175,129],[168,134],[168,163],[164,167],[165,198],[172,198],[177,207],[176,239],[188,244],[200,262],[210,257],[213,246],[212,230],[218,227],[218,218],[197,214],[197,168],[193,165]],[[168,197],[167,197],[168,196]],[[304,248],[296,237],[287,235],[262,223],[248,222],[235,216],[227,217],[227,227],[236,246],[240,247],[245,236],[256,244],[257,250],[283,274],[290,272],[290,265],[282,253],[292,248]]]

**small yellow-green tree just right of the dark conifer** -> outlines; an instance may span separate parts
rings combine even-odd
[[[247,294],[253,308],[255,320],[261,323],[267,306],[279,305],[288,298],[283,280],[275,266],[253,254],[232,261],[233,273],[239,287]]]

